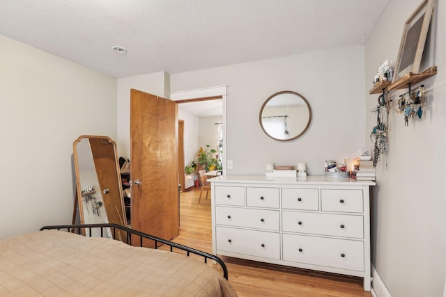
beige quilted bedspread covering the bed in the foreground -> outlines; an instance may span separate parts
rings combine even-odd
[[[185,255],[45,230],[0,241],[0,296],[237,296]]]

